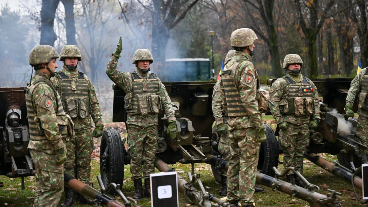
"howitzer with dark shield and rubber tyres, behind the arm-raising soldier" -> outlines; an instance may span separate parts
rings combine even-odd
[[[227,161],[220,159],[217,152],[219,135],[212,128],[214,121],[212,115],[212,92],[215,82],[168,82],[163,83],[166,87],[174,109],[180,112],[177,115],[177,138],[170,139],[166,134],[167,118],[163,111],[159,114],[159,146],[156,154],[155,166],[160,171],[171,171],[167,164],[191,164],[192,171],[188,173],[189,182],[178,176],[178,189],[181,190],[188,203],[197,206],[229,206],[230,204],[217,199],[214,195],[206,192],[200,181],[199,174],[194,172],[195,163],[211,164],[212,172],[217,181],[220,181],[219,169],[227,169]],[[113,122],[125,122],[126,111],[124,110],[125,92],[113,85]],[[331,190],[329,196],[314,192],[316,186],[308,185],[301,188],[291,185],[278,178],[273,178],[277,173],[273,168],[278,165],[279,149],[277,139],[272,128],[266,126],[266,142],[261,144],[257,172],[257,182],[269,186],[273,190],[296,196],[306,200],[311,206],[340,206],[336,196],[339,194]],[[100,149],[100,171],[104,185],[110,182],[122,186],[124,181],[124,164],[130,163],[130,153],[125,150],[124,143],[119,133],[114,129],[108,129],[103,133]],[[291,169],[289,169],[291,170]],[[300,175],[301,176],[301,175]],[[304,179],[301,176],[302,179]],[[304,179],[305,180],[305,179]],[[197,181],[201,189],[195,190],[192,184]],[[306,181],[306,180],[305,180]],[[211,204],[210,201],[215,202]]]

